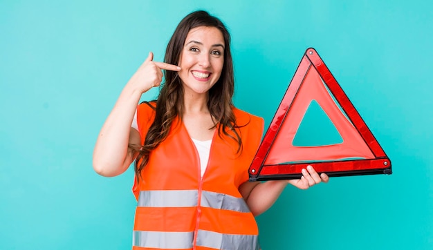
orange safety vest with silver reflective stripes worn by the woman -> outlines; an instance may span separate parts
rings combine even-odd
[[[165,141],[151,152],[142,180],[133,185],[138,201],[133,250],[259,249],[257,222],[239,186],[248,181],[264,121],[237,108],[233,112],[242,151],[236,153],[237,143],[219,137],[216,128],[203,177],[194,142],[181,120],[174,120]],[[143,144],[155,111],[143,103],[137,114]]]

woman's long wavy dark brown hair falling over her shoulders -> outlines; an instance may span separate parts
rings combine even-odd
[[[221,30],[224,38],[224,64],[216,84],[209,90],[208,109],[214,124],[220,124],[218,134],[231,137],[238,144],[237,153],[241,151],[242,143],[237,128],[236,119],[232,112],[232,97],[234,93],[234,73],[232,55],[230,52],[230,33],[224,24],[216,17],[209,15],[208,12],[198,10],[190,13],[178,24],[172,38],[170,39],[167,50],[165,51],[164,61],[167,64],[177,65],[181,58],[181,52],[185,44],[188,32],[192,28],[199,26],[215,27]],[[135,170],[137,180],[140,180],[140,173],[149,161],[149,154],[156,148],[169,133],[170,126],[174,118],[183,115],[183,86],[178,73],[171,70],[164,72],[165,82],[160,87],[158,100],[156,101],[156,116],[153,124],[145,138],[144,146],[140,147],[136,158]],[[214,126],[214,127],[215,127]],[[213,128],[214,128],[213,127]],[[228,131],[232,131],[234,136]],[[140,164],[138,164],[140,162]]]

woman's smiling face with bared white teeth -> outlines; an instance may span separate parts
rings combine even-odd
[[[224,48],[223,33],[215,27],[188,32],[178,65],[185,95],[206,94],[214,86],[223,70]]]

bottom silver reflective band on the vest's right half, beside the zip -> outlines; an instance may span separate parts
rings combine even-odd
[[[197,246],[214,249],[259,249],[257,235],[224,234],[212,231],[199,230],[197,234]]]

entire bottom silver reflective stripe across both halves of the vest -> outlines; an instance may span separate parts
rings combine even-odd
[[[199,230],[197,246],[213,249],[238,249],[257,250],[257,235],[238,235],[216,233]],[[191,249],[194,232],[155,232],[133,231],[134,247],[154,247],[159,249]],[[235,242],[235,243],[234,243]]]

